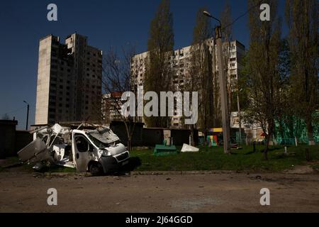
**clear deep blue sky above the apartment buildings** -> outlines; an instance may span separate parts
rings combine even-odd
[[[57,4],[58,21],[47,21],[47,5]],[[26,125],[26,104],[30,103],[29,123],[34,123],[38,70],[38,43],[45,35],[77,33],[89,37],[89,45],[101,50],[121,48],[128,43],[138,52],[147,48],[150,21],[159,0],[64,0],[1,1],[0,5],[0,118],[8,113]],[[196,11],[207,6],[219,16],[225,1],[171,0],[174,14],[175,48],[190,45]],[[230,0],[233,18],[247,11],[247,0]],[[284,15],[284,0],[279,1]],[[249,45],[247,16],[233,26],[234,38]]]

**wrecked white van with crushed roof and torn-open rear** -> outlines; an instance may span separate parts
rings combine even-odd
[[[129,152],[110,128],[104,126],[78,126],[76,129],[55,126],[33,131],[33,142],[18,152],[22,162],[71,167],[92,175],[118,171],[128,164]]]

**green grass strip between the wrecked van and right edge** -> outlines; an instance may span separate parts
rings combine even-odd
[[[137,171],[188,171],[188,170],[252,170],[272,171],[290,169],[292,166],[306,164],[306,148],[310,150],[312,161],[319,160],[319,145],[301,145],[298,148],[289,147],[289,153],[296,155],[280,155],[284,153],[284,147],[271,147],[268,161],[263,160],[261,150],[264,146],[257,146],[257,152],[252,152],[251,147],[242,150],[233,150],[232,155],[225,155],[223,148],[201,148],[200,153],[178,153],[157,157],[153,150],[133,150],[131,157],[138,157],[142,165]],[[179,148],[180,149],[180,148]]]

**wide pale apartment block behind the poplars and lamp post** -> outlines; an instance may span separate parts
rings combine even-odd
[[[216,55],[217,48],[215,40],[213,38],[208,39],[206,40],[206,44],[208,45],[211,54]],[[234,92],[239,78],[239,71],[241,67],[240,61],[242,60],[242,56],[245,54],[245,45],[242,45],[242,43],[235,40],[230,42],[230,44],[223,44],[224,50],[227,50],[228,48],[228,83],[231,84],[231,90]],[[131,72],[132,76],[135,77],[136,85],[138,86],[142,86],[144,82],[147,55],[148,52],[143,52],[132,58]],[[174,72],[174,76],[172,78],[174,87],[177,91],[183,91],[186,77],[191,76],[189,72],[189,69],[191,68],[191,46],[175,50],[170,65],[172,65]],[[218,71],[218,64],[216,64],[213,68]],[[175,114],[177,114],[176,110]],[[181,117],[177,115],[172,117],[172,127],[182,127]]]

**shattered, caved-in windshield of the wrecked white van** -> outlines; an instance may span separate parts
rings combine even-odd
[[[116,143],[120,140],[110,128],[99,128],[88,131],[86,135],[88,135],[92,142],[101,149],[107,148],[111,143]]]

